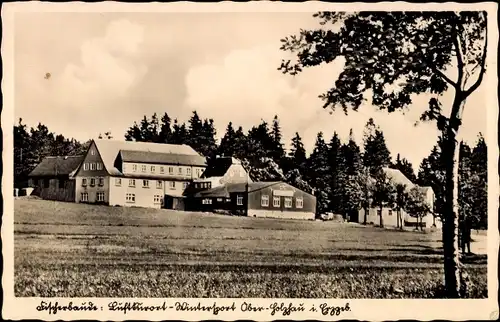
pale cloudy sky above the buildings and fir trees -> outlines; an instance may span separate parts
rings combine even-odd
[[[428,96],[404,112],[366,102],[345,115],[324,110],[318,98],[334,84],[341,59],[296,77],[277,70],[282,58],[293,58],[280,51],[280,39],[317,27],[308,12],[16,13],[15,117],[84,141],[107,131],[121,140],[155,112],[187,121],[196,110],[214,119],[219,138],[230,121],[247,131],[278,115],[285,143],[298,132],[308,152],[319,131],[327,141],[336,131],[345,142],[352,128],[362,145],[373,118],[392,157],[400,153],[417,170],[438,135],[433,123],[415,126]],[[486,134],[484,97],[481,86],[467,101],[460,133],[469,144]],[[451,99],[449,92],[441,100],[449,106]]]

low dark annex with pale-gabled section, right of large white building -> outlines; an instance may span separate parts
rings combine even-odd
[[[253,182],[241,161],[217,157],[185,191],[186,210],[287,219],[316,217],[316,197],[285,182]]]

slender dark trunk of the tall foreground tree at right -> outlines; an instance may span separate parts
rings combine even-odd
[[[457,98],[456,98],[457,100]],[[458,104],[463,104],[460,102]],[[454,102],[454,104],[457,104]],[[453,124],[450,124],[453,126]],[[457,127],[458,128],[458,127]],[[460,149],[456,134],[448,129],[445,137],[445,153],[442,157],[446,165],[445,202],[443,213],[444,279],[446,296],[460,297],[460,257],[458,244],[458,162]]]

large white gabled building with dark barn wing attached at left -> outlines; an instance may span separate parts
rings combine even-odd
[[[38,180],[41,173],[54,177],[54,171],[47,173],[47,165],[48,161],[42,162],[31,177]],[[202,176],[206,159],[187,145],[95,140],[72,165],[71,178],[57,186],[58,193],[53,192],[55,177],[51,177],[52,181],[40,181],[42,198],[183,209],[184,190]]]

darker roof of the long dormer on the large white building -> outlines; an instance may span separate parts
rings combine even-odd
[[[172,154],[149,151],[120,151],[123,162],[153,164],[205,166],[206,160],[201,155]]]

